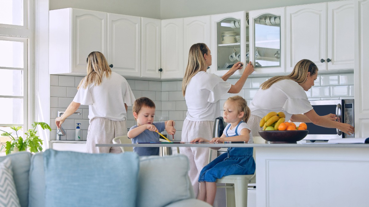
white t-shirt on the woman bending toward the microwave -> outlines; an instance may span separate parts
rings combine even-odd
[[[284,79],[276,82],[266,90],[256,92],[249,108],[251,114],[259,117],[267,113],[284,112],[286,122],[293,114],[302,114],[313,109],[304,89],[293,80]]]

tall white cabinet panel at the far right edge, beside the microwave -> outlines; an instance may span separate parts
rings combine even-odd
[[[355,137],[369,137],[369,0],[355,0]]]

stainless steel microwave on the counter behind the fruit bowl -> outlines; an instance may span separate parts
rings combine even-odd
[[[329,113],[337,115],[337,121],[354,126],[354,99],[310,101],[315,112],[324,116]],[[308,135],[304,140],[330,140],[332,138],[353,138],[355,134],[346,134],[338,129],[325,128],[313,123],[306,123]],[[354,126],[355,127],[355,126]]]

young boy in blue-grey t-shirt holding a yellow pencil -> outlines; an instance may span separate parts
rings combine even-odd
[[[155,103],[146,97],[136,99],[133,104],[133,116],[137,120],[137,125],[132,126],[128,131],[128,137],[132,143],[159,142],[160,135],[156,132],[164,131],[173,135],[176,132],[173,120],[166,122],[155,122]],[[133,151],[139,156],[159,155],[159,147],[133,147]]]

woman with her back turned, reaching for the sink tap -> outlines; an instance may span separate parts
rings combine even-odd
[[[55,119],[56,126],[59,128],[81,104],[89,105],[87,152],[122,152],[120,147],[95,145],[111,144],[114,137],[127,135],[127,106],[135,101],[127,80],[110,70],[102,53],[92,52],[87,57],[87,76],[81,80],[77,90],[65,113]]]

